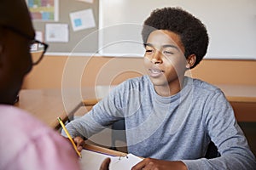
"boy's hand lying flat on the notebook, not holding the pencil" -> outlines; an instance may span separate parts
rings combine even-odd
[[[143,161],[140,161],[131,168],[132,170],[141,170],[141,169],[159,169],[159,170],[172,170],[180,169],[187,170],[186,165],[182,161],[163,161],[152,158],[145,158]]]

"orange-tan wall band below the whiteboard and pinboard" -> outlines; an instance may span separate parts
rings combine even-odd
[[[82,87],[116,85],[143,74],[142,58],[72,57],[78,64],[74,64],[68,72],[73,76],[81,74],[79,82]],[[67,56],[45,56],[27,75],[23,88],[61,88],[63,72],[67,71],[65,68],[70,60]],[[83,72],[76,72],[79,70],[77,65],[81,63],[84,63]],[[192,77],[212,84],[240,85],[256,85],[255,73],[256,60],[204,59],[191,71]],[[70,77],[71,80],[73,78]]]

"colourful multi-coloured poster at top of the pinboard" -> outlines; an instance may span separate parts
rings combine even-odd
[[[59,0],[27,0],[27,6],[32,20],[59,20]]]

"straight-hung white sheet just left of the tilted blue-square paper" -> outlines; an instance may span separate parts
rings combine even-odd
[[[68,25],[46,24],[45,40],[46,42],[68,42]]]

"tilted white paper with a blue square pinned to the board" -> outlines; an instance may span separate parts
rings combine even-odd
[[[72,23],[73,31],[84,30],[96,26],[91,8],[70,13],[69,16]]]

